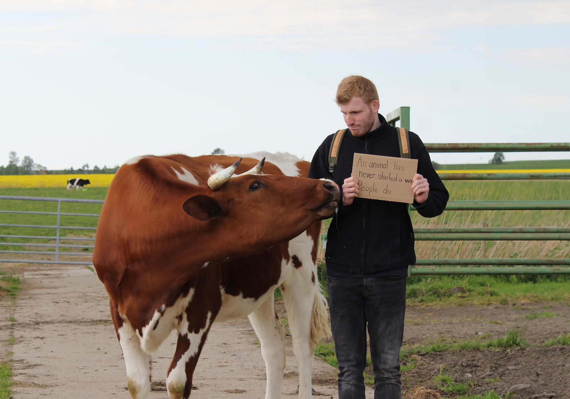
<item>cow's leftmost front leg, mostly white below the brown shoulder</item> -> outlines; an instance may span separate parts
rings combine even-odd
[[[110,305],[117,338],[123,349],[129,393],[133,399],[146,399],[150,395],[150,356],[141,349],[139,335],[128,321],[123,320],[113,300]]]

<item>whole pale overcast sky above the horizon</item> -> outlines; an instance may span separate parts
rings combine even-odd
[[[570,141],[570,1],[0,0],[0,165],[287,151],[347,75],[424,143]],[[440,163],[490,153],[433,154]],[[507,153],[507,160],[569,153]]]

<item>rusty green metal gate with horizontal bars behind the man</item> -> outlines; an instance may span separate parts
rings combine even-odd
[[[400,120],[410,129],[410,107],[386,115],[389,124]],[[570,151],[570,143],[449,143],[425,144],[429,152],[544,152]],[[570,173],[441,173],[442,180],[569,180]],[[569,182],[570,184],[570,182]],[[415,210],[414,207],[411,210]],[[445,211],[459,210],[570,210],[570,201],[449,201]],[[470,229],[414,229],[416,241],[570,241],[570,228],[492,227]],[[555,274],[570,273],[570,259],[418,259],[408,275],[438,274]],[[426,267],[455,266],[455,267]],[[471,266],[471,267],[457,267]],[[500,267],[473,267],[500,266]],[[525,267],[533,266],[533,267]],[[540,266],[540,267],[538,267]],[[556,266],[556,267],[554,267]]]

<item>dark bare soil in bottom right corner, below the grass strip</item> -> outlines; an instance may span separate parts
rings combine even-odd
[[[449,374],[456,382],[473,382],[471,394],[494,390],[498,394],[512,391],[514,398],[570,398],[570,348],[526,348],[510,351],[441,352],[421,356],[419,365],[404,373],[402,385],[411,393],[425,386],[441,394],[433,377]],[[543,396],[544,393],[553,394]]]

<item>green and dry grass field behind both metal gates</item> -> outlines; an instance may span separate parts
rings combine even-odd
[[[448,181],[451,200],[560,200],[570,198],[568,181]],[[107,188],[88,188],[87,191],[68,192],[66,189],[30,188],[0,189],[0,195],[27,197],[92,198],[103,200]],[[55,202],[0,201],[3,210],[55,211]],[[73,213],[99,213],[101,205],[62,203],[62,211]],[[1,223],[55,225],[55,216],[0,214]],[[570,211],[446,211],[441,216],[425,219],[412,212],[414,227],[570,227]],[[64,226],[93,226],[95,217],[62,217]],[[329,220],[325,221],[328,225]],[[324,230],[326,231],[326,230]],[[83,237],[93,237],[82,232]],[[0,227],[2,235],[50,236],[53,229]],[[62,230],[63,235],[77,237],[77,231]],[[6,239],[1,242],[46,243],[40,239]],[[64,241],[65,242],[65,241]],[[68,242],[78,244],[78,242]],[[91,242],[92,244],[92,242]],[[564,241],[488,241],[487,258],[568,258],[570,245]],[[0,247],[7,249],[7,246]],[[30,247],[11,246],[11,250],[30,250]],[[36,249],[35,249],[36,250]],[[52,251],[43,249],[42,251]],[[91,252],[85,249],[86,252]],[[479,258],[481,241],[420,241],[416,242],[418,259]],[[9,254],[3,254],[7,258]],[[87,258],[87,257],[86,257]],[[320,280],[326,284],[325,271]],[[463,287],[461,294],[449,294],[454,287]],[[325,286],[326,288],[326,286]],[[279,292],[276,292],[279,298]],[[456,306],[465,303],[500,303],[505,300],[570,300],[570,280],[563,276],[413,276],[408,279],[408,303],[431,306]]]

